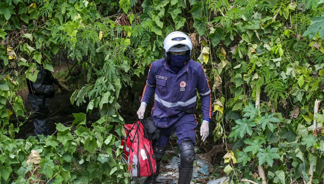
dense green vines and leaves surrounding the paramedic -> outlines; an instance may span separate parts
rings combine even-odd
[[[163,57],[162,43],[173,30],[188,33],[194,59],[205,66],[213,87],[214,139],[233,143],[234,157],[224,171],[234,182],[323,182],[323,0],[4,0],[0,3],[1,183],[128,183],[117,113],[122,86]],[[72,130],[57,124],[57,137],[14,139],[10,116],[26,118],[16,96],[16,77],[25,71],[36,80],[35,60],[53,70],[51,56],[67,49],[87,71],[88,84],[71,103],[87,103],[102,117],[85,127],[86,115],[74,114]],[[26,66],[24,68],[23,66]],[[260,97],[260,107],[255,100]],[[137,97],[136,97],[137,98]],[[199,117],[199,116],[198,116]],[[313,132],[313,121],[318,129]],[[16,128],[15,128],[16,127]],[[26,163],[31,150],[41,162]],[[312,153],[313,151],[313,153]],[[52,172],[53,171],[53,172]],[[43,173],[43,174],[41,174]],[[28,177],[25,177],[28,176]],[[217,175],[214,175],[217,176]],[[123,177],[123,179],[121,179]]]

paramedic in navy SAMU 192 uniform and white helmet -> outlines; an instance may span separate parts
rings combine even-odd
[[[189,36],[180,31],[167,35],[163,42],[164,58],[151,63],[138,118],[143,119],[146,105],[154,95],[152,118],[161,128],[160,139],[153,142],[156,158],[156,174],[149,176],[145,184],[155,184],[169,135],[175,131],[180,147],[180,166],[178,184],[190,184],[193,160],[195,158],[196,115],[189,109],[196,107],[197,93],[201,97],[203,123],[200,135],[205,141],[209,134],[209,122],[213,116],[212,96],[203,65],[191,60],[192,42]],[[189,111],[188,111],[189,110]],[[186,112],[185,112],[186,111]]]

